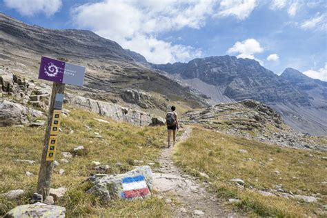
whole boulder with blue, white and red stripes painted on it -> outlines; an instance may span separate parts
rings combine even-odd
[[[150,166],[139,166],[119,175],[97,174],[88,178],[93,186],[88,190],[101,197],[110,199],[135,199],[151,195],[152,170]]]

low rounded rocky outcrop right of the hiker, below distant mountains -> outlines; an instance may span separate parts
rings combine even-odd
[[[253,100],[219,103],[204,110],[191,110],[182,117],[183,123],[201,123],[202,126],[229,135],[274,143],[293,148],[326,150],[324,144],[310,135],[292,130],[281,116],[269,106]]]

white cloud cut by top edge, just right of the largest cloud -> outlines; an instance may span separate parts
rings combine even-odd
[[[220,11],[216,14],[221,17],[235,16],[243,20],[250,16],[257,6],[256,0],[221,0]]]

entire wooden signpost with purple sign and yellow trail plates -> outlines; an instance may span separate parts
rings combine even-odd
[[[84,67],[71,63],[48,57],[41,58],[39,79],[53,81],[48,112],[48,125],[46,126],[39,179],[37,181],[37,193],[41,194],[43,199],[48,197],[51,185],[51,176],[54,168],[53,161],[58,145],[65,84],[83,86],[85,70]]]

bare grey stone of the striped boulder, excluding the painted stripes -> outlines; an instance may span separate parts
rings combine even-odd
[[[152,171],[149,166],[139,166],[132,171],[119,175],[97,174],[89,177],[87,181],[90,181],[93,186],[88,190],[88,192],[101,197],[103,201],[109,201],[112,198],[124,199],[123,186],[126,185],[123,185],[122,183],[123,178],[137,176],[143,176],[146,186],[148,186],[148,192],[139,197],[150,196],[150,191],[152,190]]]

